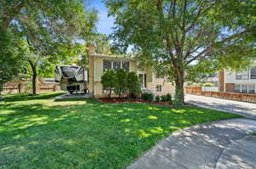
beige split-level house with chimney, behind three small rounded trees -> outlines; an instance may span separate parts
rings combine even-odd
[[[134,71],[141,80],[141,87],[144,92],[162,95],[174,93],[174,87],[166,78],[158,78],[152,69],[138,70],[137,60],[133,57],[122,57],[108,54],[96,54],[95,47],[89,47],[89,93],[98,98],[107,96],[107,91],[102,88],[102,75],[104,70],[124,69]]]

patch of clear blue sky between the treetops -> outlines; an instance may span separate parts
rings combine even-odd
[[[85,6],[87,8],[96,8],[98,10],[98,22],[97,22],[97,31],[103,34],[111,34],[113,30],[114,19],[113,17],[108,17],[108,8],[105,4],[102,3],[102,0],[85,0]]]

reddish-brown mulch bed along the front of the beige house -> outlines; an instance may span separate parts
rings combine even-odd
[[[104,104],[122,104],[122,103],[144,103],[154,105],[172,105],[167,102],[147,102],[143,99],[127,99],[127,98],[98,98],[98,100]]]

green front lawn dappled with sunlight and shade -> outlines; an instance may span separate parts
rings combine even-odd
[[[0,102],[0,168],[121,169],[177,129],[239,117],[195,107],[101,104],[8,95]]]

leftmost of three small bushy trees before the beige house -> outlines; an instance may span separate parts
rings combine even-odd
[[[113,87],[115,86],[115,72],[113,70],[107,70],[102,75],[102,87],[108,90],[108,98],[111,98]]]

